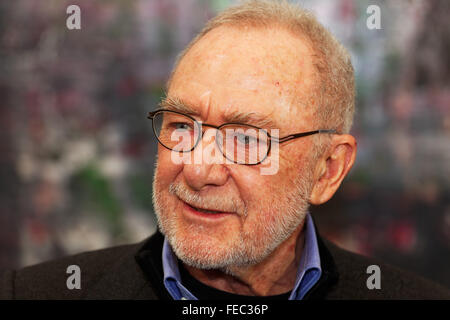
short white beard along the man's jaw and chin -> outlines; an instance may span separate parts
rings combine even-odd
[[[305,168],[303,171],[310,173],[309,169]],[[261,212],[280,213],[276,219],[272,219],[272,223],[258,221],[255,227],[261,236],[256,237],[253,232],[239,232],[229,241],[223,242],[210,236],[204,226],[193,224],[188,226],[188,230],[183,226],[184,230],[179,232],[179,220],[173,212],[167,211],[172,208],[164,206],[164,203],[170,203],[168,194],[181,193],[183,197],[190,195],[191,199],[199,201],[197,203],[201,203],[202,199],[180,185],[171,184],[170,191],[161,190],[157,172],[158,168],[153,179],[153,205],[159,229],[177,257],[185,264],[199,269],[219,269],[233,274],[232,269],[236,267],[248,267],[262,262],[304,223],[309,208],[312,179],[310,174],[303,174],[294,181],[292,191],[282,193],[282,202],[270,199],[267,203],[260,204]],[[210,199],[207,203],[211,204]],[[260,216],[264,219],[264,214]]]

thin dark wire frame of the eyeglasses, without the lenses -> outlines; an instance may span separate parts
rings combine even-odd
[[[158,109],[158,110],[149,112],[149,113],[148,113],[148,116],[147,116],[147,119],[151,119],[151,120],[152,120],[153,133],[155,134],[156,139],[158,140],[158,142],[159,142],[164,148],[169,149],[169,150],[171,150],[171,151],[174,151],[174,150],[171,149],[171,148],[169,148],[169,147],[167,147],[166,145],[164,145],[164,143],[162,143],[161,140],[159,140],[158,134],[157,134],[156,131],[155,131],[155,123],[154,123],[155,115],[158,114],[158,113],[160,113],[160,112],[172,112],[172,113],[175,113],[175,114],[179,114],[179,115],[188,117],[189,119],[191,119],[192,121],[194,121],[194,123],[195,123],[195,124],[197,125],[197,127],[200,128],[200,129],[201,129],[202,126],[205,126],[205,127],[214,128],[214,129],[216,129],[216,130],[219,132],[221,128],[223,128],[223,127],[225,127],[225,126],[227,126],[227,125],[239,125],[239,126],[246,126],[246,127],[251,127],[251,128],[254,128],[254,129],[258,129],[258,130],[264,131],[264,133],[265,133],[265,134],[267,135],[267,137],[269,138],[269,147],[267,148],[267,152],[266,152],[265,157],[264,157],[262,160],[258,161],[257,163],[247,164],[247,163],[239,163],[239,162],[235,162],[234,160],[229,159],[229,158],[225,155],[225,153],[222,151],[222,149],[220,148],[220,151],[222,152],[222,155],[223,155],[225,158],[227,158],[228,160],[232,161],[233,163],[236,163],[236,164],[244,164],[244,165],[246,165],[246,166],[255,166],[255,165],[260,164],[260,163],[263,162],[264,160],[266,160],[266,158],[269,156],[270,149],[271,149],[271,147],[272,147],[272,140],[275,141],[275,142],[278,142],[278,143],[283,143],[283,142],[286,142],[286,141],[289,141],[289,140],[293,140],[293,139],[297,139],[297,138],[302,138],[302,137],[310,136],[310,135],[317,134],[317,133],[331,133],[331,134],[336,134],[336,133],[337,133],[337,131],[334,130],[334,129],[319,129],[319,130],[313,130],[313,131],[308,131],[308,132],[294,133],[294,134],[287,135],[287,136],[285,136],[285,137],[283,137],[283,138],[275,138],[275,137],[272,137],[266,129],[263,129],[263,128],[260,128],[260,127],[257,127],[257,126],[251,125],[251,124],[247,124],[247,123],[227,122],[227,123],[221,124],[220,126],[215,126],[215,125],[208,124],[208,123],[204,123],[204,122],[201,122],[201,124],[200,124],[200,122],[197,121],[195,118],[191,117],[191,116],[188,115],[188,114],[179,112],[179,111],[174,111],[174,110],[169,110],[169,109]],[[194,149],[197,147],[197,145],[198,145],[198,143],[200,142],[202,136],[203,136],[203,131],[202,131],[202,130],[199,130],[199,137],[198,137],[198,139],[197,139],[197,142],[194,144],[194,146],[193,146],[190,150],[187,150],[187,151],[183,151],[183,150],[178,151],[178,150],[175,150],[175,151],[176,151],[176,152],[182,152],[182,153],[192,152],[192,150],[194,150]],[[216,141],[217,141],[217,133],[216,133]],[[216,142],[216,143],[217,143],[217,142]],[[219,147],[220,147],[220,146],[219,146]]]

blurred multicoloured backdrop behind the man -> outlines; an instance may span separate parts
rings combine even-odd
[[[156,230],[147,112],[177,53],[233,3],[0,2],[0,270]],[[312,208],[321,234],[450,287],[450,1],[300,3],[349,48],[357,80],[357,161]],[[70,4],[81,30],[66,27]]]

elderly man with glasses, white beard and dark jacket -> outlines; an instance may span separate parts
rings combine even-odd
[[[229,8],[182,52],[149,114],[160,231],[7,272],[2,297],[449,297],[318,235],[308,206],[328,201],[355,161],[353,112],[350,57],[313,16],[280,2]],[[70,290],[73,265],[81,287]]]

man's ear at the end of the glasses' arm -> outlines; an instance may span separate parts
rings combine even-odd
[[[356,158],[356,140],[349,134],[334,135],[328,151],[316,165],[315,184],[309,202],[319,205],[331,199]]]

